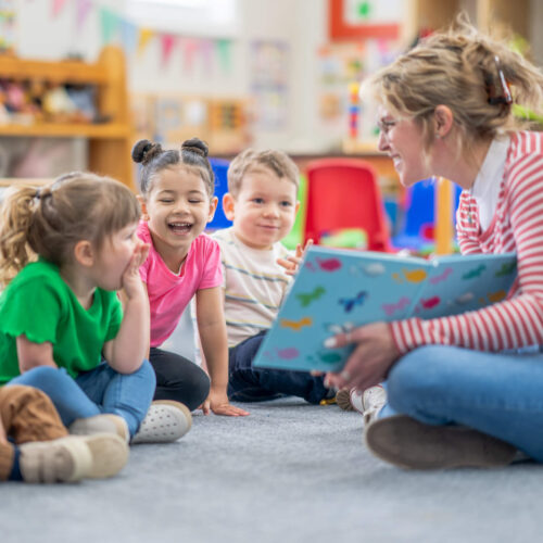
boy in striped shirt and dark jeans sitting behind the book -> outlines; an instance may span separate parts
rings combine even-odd
[[[287,394],[318,404],[333,396],[323,377],[253,367],[302,254],[300,247],[291,255],[280,243],[300,206],[298,185],[298,167],[281,151],[248,149],[228,168],[223,209],[233,225],[213,238],[220,245],[223,264],[230,400],[263,401]]]

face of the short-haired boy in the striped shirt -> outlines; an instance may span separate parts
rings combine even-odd
[[[300,202],[294,182],[260,167],[245,173],[236,198],[225,194],[223,206],[243,243],[267,250],[290,232]]]

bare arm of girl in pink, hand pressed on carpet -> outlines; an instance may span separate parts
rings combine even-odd
[[[223,311],[223,288],[197,292],[197,321],[202,352],[211,378],[210,407],[215,415],[232,417],[249,415],[228,402],[228,341]],[[209,413],[204,404],[204,413]]]

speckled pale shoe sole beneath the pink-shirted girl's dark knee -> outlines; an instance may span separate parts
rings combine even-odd
[[[131,443],[171,443],[185,435],[192,426],[189,408],[171,400],[151,404]]]

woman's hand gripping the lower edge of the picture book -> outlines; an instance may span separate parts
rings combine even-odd
[[[338,374],[327,374],[328,387],[365,390],[387,378],[400,356],[387,323],[361,326],[348,333],[339,333],[325,341],[325,346],[340,348],[355,343],[355,350]]]

